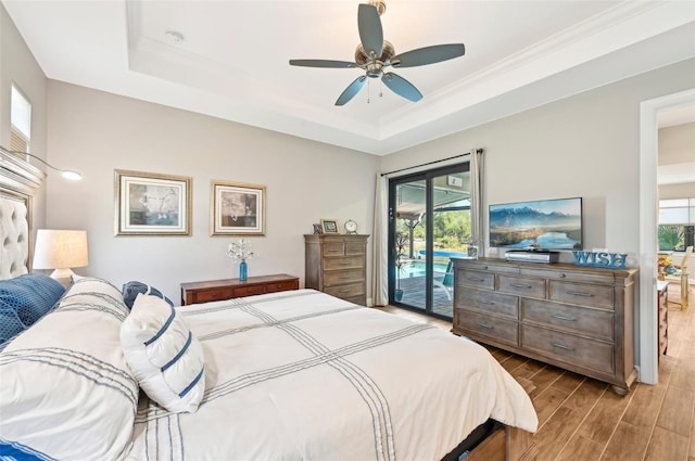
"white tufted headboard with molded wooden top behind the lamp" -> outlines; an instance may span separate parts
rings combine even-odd
[[[34,194],[43,172],[0,148],[0,280],[27,273],[34,249]]]

